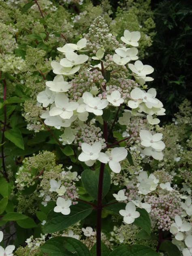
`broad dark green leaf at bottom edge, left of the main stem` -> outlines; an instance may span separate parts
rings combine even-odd
[[[91,256],[89,249],[72,237],[53,237],[40,249],[47,256]]]

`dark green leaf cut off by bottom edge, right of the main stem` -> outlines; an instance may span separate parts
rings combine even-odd
[[[145,245],[133,245],[118,247],[109,256],[158,256],[158,254]]]

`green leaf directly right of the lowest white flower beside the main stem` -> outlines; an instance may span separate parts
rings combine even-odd
[[[149,213],[145,209],[140,209],[140,208],[137,208],[137,211],[139,211],[140,216],[139,218],[135,219],[134,224],[144,229],[147,232],[147,234],[150,235],[151,220],[149,218]]]

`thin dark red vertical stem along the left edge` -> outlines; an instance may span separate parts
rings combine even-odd
[[[3,80],[3,101],[6,100],[6,80]],[[6,167],[5,167],[5,155],[4,155],[4,139],[5,135],[4,132],[6,130],[6,104],[3,106],[3,112],[4,112],[4,125],[2,129],[2,138],[1,138],[1,157],[2,157],[2,168],[3,168],[3,175],[6,178],[7,181],[9,181],[8,175],[6,173]]]

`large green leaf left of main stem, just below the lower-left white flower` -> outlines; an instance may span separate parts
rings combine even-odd
[[[93,208],[83,202],[70,207],[70,214],[63,215],[62,213],[55,213],[51,211],[47,216],[47,223],[43,227],[45,233],[53,233],[64,230],[69,226],[75,224],[79,220],[85,219],[92,212]]]

